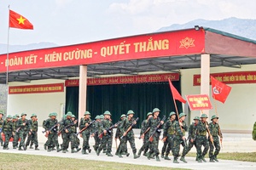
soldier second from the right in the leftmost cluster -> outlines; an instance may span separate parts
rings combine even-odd
[[[26,150],[26,146],[25,146],[25,139],[26,139],[26,135],[27,133],[31,134],[32,133],[32,128],[28,122],[28,120],[26,119],[26,113],[22,113],[21,118],[18,121],[18,128],[16,129],[16,132],[19,135],[20,138],[20,144],[19,144],[19,150],[22,150],[21,147],[23,147],[23,150]]]

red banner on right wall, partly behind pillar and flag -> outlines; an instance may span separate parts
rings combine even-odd
[[[225,84],[256,83],[256,71],[224,72],[211,74]],[[201,85],[201,75],[194,75],[193,86]]]

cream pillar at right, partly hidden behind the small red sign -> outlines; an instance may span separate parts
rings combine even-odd
[[[210,54],[201,54],[201,94],[210,92]],[[203,111],[209,117],[209,110]]]

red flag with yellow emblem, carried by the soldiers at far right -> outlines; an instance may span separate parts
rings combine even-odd
[[[211,77],[212,81],[212,98],[217,99],[218,101],[224,103],[230,94],[231,87],[224,84],[223,82],[219,82],[214,77]]]

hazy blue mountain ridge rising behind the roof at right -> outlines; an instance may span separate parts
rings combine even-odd
[[[158,31],[172,31],[193,28],[194,26],[210,27],[219,31],[226,31],[241,37],[256,40],[256,20],[238,19],[235,17],[224,20],[192,20],[185,24],[173,24],[160,28]]]

